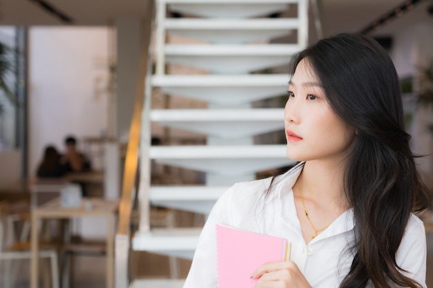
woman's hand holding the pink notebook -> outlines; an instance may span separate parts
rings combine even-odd
[[[293,261],[265,263],[252,273],[251,278],[259,278],[255,288],[311,288]]]

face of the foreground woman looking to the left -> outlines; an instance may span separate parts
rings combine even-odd
[[[284,124],[286,153],[292,160],[342,161],[353,146],[354,129],[333,112],[306,59],[289,82]]]

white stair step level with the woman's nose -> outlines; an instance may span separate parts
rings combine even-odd
[[[284,129],[284,108],[154,110],[151,121],[221,138],[250,137]]]

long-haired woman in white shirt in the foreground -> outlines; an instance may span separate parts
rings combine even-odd
[[[210,213],[185,287],[217,287],[215,224],[292,242],[291,261],[251,271],[255,287],[426,287],[430,206],[387,52],[362,35],[322,39],[292,59],[284,175],[235,184]]]

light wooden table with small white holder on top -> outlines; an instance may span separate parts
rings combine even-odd
[[[30,288],[37,288],[38,283],[38,223],[43,219],[71,219],[85,216],[107,218],[107,288],[114,287],[114,231],[115,218],[118,211],[118,200],[104,200],[100,198],[84,198],[81,207],[65,208],[60,204],[60,199],[55,198],[40,207],[32,210],[32,231],[30,262]]]

